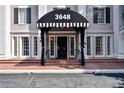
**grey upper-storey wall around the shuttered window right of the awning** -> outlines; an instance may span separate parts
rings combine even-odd
[[[86,18],[89,21],[88,31],[91,32],[108,32],[113,31],[113,7],[110,6],[110,24],[94,24],[93,23],[93,8],[96,6],[87,5],[86,6]]]

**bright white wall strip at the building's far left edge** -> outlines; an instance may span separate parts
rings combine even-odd
[[[10,55],[10,6],[0,6],[0,58]]]

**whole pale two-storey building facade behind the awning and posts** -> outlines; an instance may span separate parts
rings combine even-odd
[[[41,31],[36,22],[55,8],[70,8],[88,20],[85,59],[124,59],[124,7],[116,5],[1,5],[0,59],[40,59]],[[51,29],[44,33],[45,59],[80,59],[80,56],[80,33],[74,29]]]

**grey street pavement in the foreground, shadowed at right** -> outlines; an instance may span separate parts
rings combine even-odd
[[[0,88],[123,88],[123,73],[0,74]]]

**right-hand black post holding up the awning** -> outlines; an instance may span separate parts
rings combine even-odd
[[[81,37],[80,37],[80,39],[81,39],[81,64],[83,65],[83,66],[85,66],[85,59],[84,59],[84,29],[83,30],[81,30]]]

